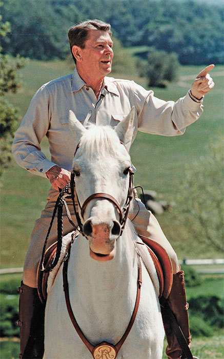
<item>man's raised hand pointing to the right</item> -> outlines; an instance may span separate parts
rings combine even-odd
[[[215,65],[209,65],[203,69],[197,77],[195,78],[193,85],[191,87],[191,93],[197,99],[205,96],[209,91],[214,87],[214,82],[212,77],[209,74],[209,71],[214,69]]]

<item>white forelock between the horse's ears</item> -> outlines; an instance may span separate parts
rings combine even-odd
[[[99,153],[100,156],[117,153],[119,138],[110,126],[90,125],[87,129],[79,146],[89,158],[93,153]]]

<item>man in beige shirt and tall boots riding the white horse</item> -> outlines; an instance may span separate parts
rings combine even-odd
[[[174,136],[184,134],[186,126],[194,123],[202,113],[203,96],[214,86],[209,71],[202,70],[186,96],[175,103],[162,101],[133,81],[107,77],[111,72],[113,41],[110,25],[98,20],[72,26],[68,37],[76,64],[72,74],[43,85],[34,95],[21,126],[15,134],[12,153],[15,161],[29,172],[47,177],[51,188],[47,204],[31,235],[20,293],[20,325],[22,358],[42,357],[44,349],[44,306],[39,302],[36,272],[59,189],[70,181],[74,155],[73,136],[68,126],[69,110],[84,123],[115,127],[135,108],[134,127],[152,134]],[[47,136],[50,146],[49,161],[40,149]],[[72,202],[68,201],[72,215]],[[136,198],[134,210],[129,214],[136,232],[150,237],[168,252],[173,269],[173,287],[170,306],[190,346],[186,296],[182,272],[177,256],[162,232],[154,215]],[[73,221],[74,218],[73,218]],[[63,233],[73,230],[66,212],[63,214]],[[57,240],[53,224],[48,246]],[[184,301],[183,301],[184,298]],[[184,303],[184,304],[183,304]],[[168,341],[169,358],[180,358],[182,350],[170,329],[166,315],[163,318]]]

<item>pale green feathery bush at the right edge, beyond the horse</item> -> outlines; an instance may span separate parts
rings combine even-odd
[[[219,138],[207,156],[186,169],[174,210],[183,243],[187,233],[201,251],[203,245],[223,250],[223,145]]]

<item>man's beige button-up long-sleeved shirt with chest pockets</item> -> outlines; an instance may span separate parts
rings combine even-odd
[[[201,103],[189,94],[173,101],[154,97],[133,81],[105,77],[98,99],[75,69],[72,74],[43,85],[34,95],[21,126],[16,131],[12,154],[29,172],[40,176],[53,166],[71,170],[76,145],[68,126],[69,110],[80,122],[116,126],[132,106],[135,107],[135,132],[175,136],[183,134],[202,113]],[[41,151],[47,136],[51,161]]]

